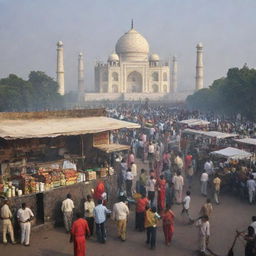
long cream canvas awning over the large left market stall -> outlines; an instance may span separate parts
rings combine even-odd
[[[140,128],[139,124],[94,116],[79,118],[42,118],[0,120],[0,137],[6,140],[44,138],[99,133],[121,128]]]

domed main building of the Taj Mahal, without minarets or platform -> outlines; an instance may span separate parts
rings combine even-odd
[[[149,54],[147,40],[133,27],[121,36],[106,64],[95,67],[95,87],[100,93],[169,93],[169,65]]]

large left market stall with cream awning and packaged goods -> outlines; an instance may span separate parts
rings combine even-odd
[[[127,150],[126,145],[110,144],[109,132],[140,126],[108,118],[104,111],[95,116],[88,116],[88,112],[95,115],[97,111],[0,115],[0,195],[10,198],[14,208],[25,200],[33,204],[36,218],[47,212],[48,217],[41,215],[52,219],[57,216],[54,211],[63,193],[57,190],[72,192],[80,203],[85,195],[76,188],[84,189],[83,184],[100,178],[109,177],[114,182],[114,168],[107,157],[98,157],[99,151]]]

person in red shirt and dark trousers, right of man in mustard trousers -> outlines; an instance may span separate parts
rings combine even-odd
[[[144,219],[146,207],[149,204],[149,200],[146,198],[145,194],[137,200],[136,203],[136,215],[135,215],[135,229],[139,231],[144,231]]]

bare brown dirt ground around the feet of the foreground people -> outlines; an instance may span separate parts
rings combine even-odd
[[[141,167],[139,164],[138,167]],[[191,194],[191,215],[198,217],[198,212],[205,202],[205,197],[200,195],[198,179],[195,178]],[[225,256],[235,236],[235,230],[245,230],[250,224],[251,216],[255,214],[255,205],[250,206],[233,195],[221,195],[221,204],[213,205],[214,210],[210,219],[211,237],[209,247],[220,256]],[[187,220],[180,215],[181,206],[174,205],[176,215],[175,233],[172,244],[166,247],[164,236],[159,222],[157,230],[157,245],[155,250],[150,250],[145,244],[146,234],[134,230],[134,209],[129,216],[127,240],[121,242],[117,238],[116,224],[109,219],[107,221],[107,243],[99,244],[95,237],[87,241],[87,255],[93,256],[141,256],[150,255],[197,255],[198,230],[195,225],[187,224]],[[234,248],[235,256],[244,255],[244,241],[238,239]],[[40,232],[33,232],[30,247],[22,245],[0,244],[1,256],[71,256],[73,245],[69,243],[69,235],[64,228],[56,228]]]

